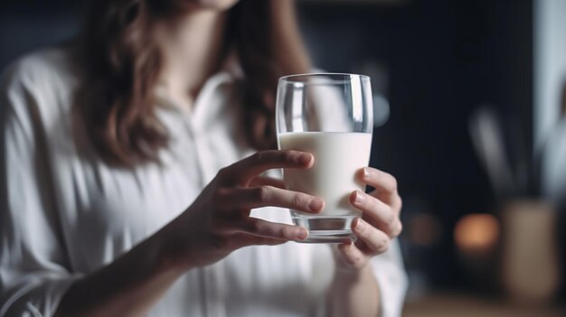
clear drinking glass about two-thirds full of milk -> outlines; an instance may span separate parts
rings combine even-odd
[[[320,214],[290,210],[297,226],[308,229],[305,242],[337,243],[354,239],[351,226],[361,211],[349,197],[364,191],[356,172],[370,160],[373,96],[363,75],[314,73],[279,79],[276,107],[279,149],[311,153],[307,170],[284,169],[288,190],[325,200]]]

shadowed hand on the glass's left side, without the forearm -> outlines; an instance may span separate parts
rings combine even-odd
[[[252,218],[250,210],[276,206],[320,212],[324,208],[320,198],[285,190],[280,180],[260,176],[269,169],[307,169],[313,163],[312,154],[273,150],[223,168],[193,204],[162,230],[170,264],[186,270],[210,265],[240,247],[307,238],[306,228]]]

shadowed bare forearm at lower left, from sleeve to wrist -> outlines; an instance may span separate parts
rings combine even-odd
[[[162,231],[72,284],[55,316],[139,316],[149,310],[184,272],[167,260]]]

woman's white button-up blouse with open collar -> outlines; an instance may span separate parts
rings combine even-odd
[[[0,316],[51,316],[73,281],[162,228],[219,169],[252,153],[231,72],[206,82],[191,113],[160,107],[172,137],[160,154],[165,164],[132,169],[78,153],[71,131],[78,84],[63,49],[24,57],[0,83]],[[286,210],[253,215],[290,222]],[[372,265],[383,316],[400,315],[407,278],[396,241]],[[184,274],[148,315],[324,315],[334,269],[327,245],[245,247]]]

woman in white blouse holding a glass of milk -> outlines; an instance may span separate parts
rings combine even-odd
[[[324,208],[263,173],[314,162],[273,150],[277,79],[311,66],[291,1],[236,2],[92,1],[6,70],[0,315],[400,314],[391,175],[360,171],[354,244],[285,243],[276,207]]]

